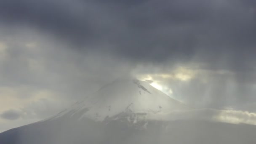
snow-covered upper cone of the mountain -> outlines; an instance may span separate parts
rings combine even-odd
[[[156,114],[185,109],[189,108],[145,81],[119,77],[53,118],[69,115],[103,121],[123,112]]]

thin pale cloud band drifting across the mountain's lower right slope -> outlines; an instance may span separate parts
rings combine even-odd
[[[207,120],[232,124],[256,125],[256,113],[236,110],[194,109],[148,115],[152,120]]]

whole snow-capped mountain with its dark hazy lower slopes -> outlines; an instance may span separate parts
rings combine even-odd
[[[254,125],[152,118],[189,110],[147,82],[122,77],[57,115],[0,133],[0,144],[256,143]]]

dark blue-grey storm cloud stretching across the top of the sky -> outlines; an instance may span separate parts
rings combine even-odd
[[[227,65],[253,59],[252,8],[252,0],[2,0],[0,19],[51,32],[85,51],[108,50],[152,62],[193,59],[215,67],[216,56],[229,55]],[[242,67],[244,61],[231,68]]]

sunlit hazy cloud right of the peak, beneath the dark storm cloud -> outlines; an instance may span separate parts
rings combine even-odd
[[[172,64],[169,66],[143,66],[138,67],[136,72],[162,85],[162,90],[171,97],[195,108],[233,107],[255,112],[256,80],[253,72],[241,73],[233,71],[216,71],[216,69],[202,69],[197,66],[184,64]],[[177,68],[178,67],[178,68]],[[184,67],[185,70],[179,70]],[[187,69],[187,70],[186,70]],[[249,73],[251,73],[249,75]],[[189,80],[180,80],[176,75],[188,75]],[[171,93],[169,90],[171,89]]]

